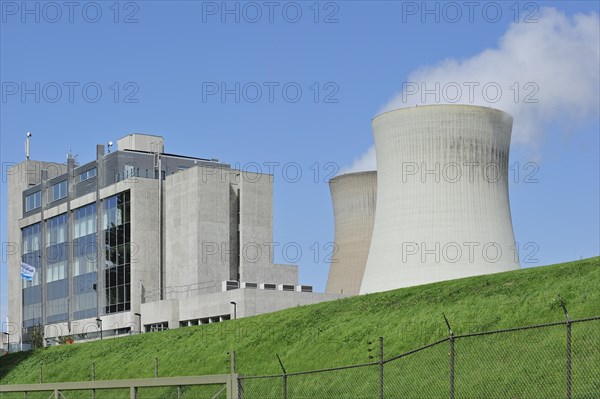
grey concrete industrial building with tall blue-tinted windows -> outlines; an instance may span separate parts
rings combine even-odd
[[[165,153],[159,136],[111,144],[81,166],[27,156],[7,173],[13,345],[27,347],[35,326],[49,342],[84,340],[339,297],[273,264],[270,175]]]

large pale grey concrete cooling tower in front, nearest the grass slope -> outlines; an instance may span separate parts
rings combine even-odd
[[[470,105],[373,119],[377,212],[360,293],[520,267],[508,201],[512,117]]]

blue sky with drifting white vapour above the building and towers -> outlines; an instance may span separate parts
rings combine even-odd
[[[402,105],[396,96],[410,79],[450,71],[453,79],[485,84],[498,76],[503,98],[488,105],[515,115],[515,235],[521,248],[536,249],[523,251],[522,266],[598,255],[599,87],[589,71],[600,65],[588,51],[596,43],[578,30],[597,37],[598,2],[475,2],[471,15],[465,3],[429,2],[431,14],[422,2],[99,1],[69,9],[1,1],[3,174],[24,159],[27,131],[37,160],[64,162],[71,150],[85,163],[95,144],[143,132],[162,135],[169,153],[248,170],[258,163],[263,172],[279,163],[274,241],[278,248],[297,243],[302,254],[276,249],[275,260],[295,261],[301,283],[322,291],[333,240],[326,181],[372,163],[371,118]],[[538,35],[546,20],[562,28],[546,24],[547,36]],[[512,47],[503,47],[503,37]],[[499,56],[489,62],[494,49]],[[515,68],[519,57],[526,67]],[[521,89],[512,104],[511,79]],[[537,85],[536,104],[524,103],[535,89],[527,83]],[[33,94],[23,96],[23,88]],[[6,189],[3,176],[2,320]]]

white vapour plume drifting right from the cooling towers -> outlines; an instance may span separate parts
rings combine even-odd
[[[497,48],[486,49],[464,60],[447,59],[413,71],[401,88],[403,91],[380,112],[437,103],[490,106],[513,116],[512,143],[534,150],[550,123],[577,125],[578,120],[597,118],[600,108],[598,14],[568,17],[554,8],[543,8],[538,21],[511,24]],[[482,90],[486,84],[487,94]],[[423,98],[423,85],[428,90],[434,89],[438,97],[428,94]],[[436,87],[439,90],[435,90]],[[457,87],[461,89],[460,94]],[[502,91],[499,96],[495,90],[498,87]],[[526,99],[527,95],[530,97]],[[535,99],[536,103],[528,102]],[[375,150],[371,147],[345,172],[376,167]]]

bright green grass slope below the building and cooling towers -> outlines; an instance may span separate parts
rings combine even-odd
[[[365,363],[370,361],[367,341],[379,336],[385,339],[386,358],[447,337],[442,314],[456,335],[561,321],[564,314],[558,294],[571,318],[600,315],[600,257],[356,296],[224,323],[14,353],[0,360],[0,383],[38,382],[40,364],[44,365],[44,382],[89,380],[92,362],[96,379],[149,378],[155,357],[161,377],[221,374],[228,372],[226,353],[231,350],[236,351],[237,370],[244,375],[280,373],[276,353],[288,372]],[[574,397],[600,396],[600,374],[596,381],[588,381],[595,374],[585,374],[588,367],[600,364],[599,327],[600,322],[573,325],[574,348],[583,348],[573,359],[574,384],[587,384],[577,388],[581,394],[574,392]],[[531,397],[552,397],[555,390],[563,396],[564,330],[557,326],[457,340],[457,389],[466,389],[468,381],[472,397],[528,397],[526,389],[531,384],[526,380],[535,378],[548,391],[531,392]],[[389,392],[398,389],[395,396],[410,397],[401,395],[402,389],[415,397],[430,397],[439,391],[447,397],[448,351],[447,345],[438,345],[406,361],[387,364],[389,384],[397,385],[390,386]],[[548,371],[553,368],[555,374]],[[357,371],[350,380],[367,387],[373,377],[376,387],[377,371],[370,369],[360,370],[374,374],[361,376],[363,371]],[[319,378],[327,381],[327,374]],[[490,382],[497,392],[486,391]],[[305,384],[318,386],[320,382]],[[377,391],[365,390],[347,395],[337,392],[338,397],[377,396]],[[314,397],[308,391],[306,395]]]

